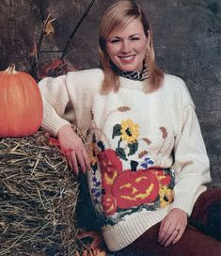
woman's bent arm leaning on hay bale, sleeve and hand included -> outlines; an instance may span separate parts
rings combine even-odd
[[[79,136],[74,133],[71,123],[63,118],[70,99],[65,75],[56,78],[47,77],[39,82],[43,102],[43,120],[41,127],[57,136],[60,147],[66,152],[70,167],[78,173],[78,164],[83,172],[90,167],[86,148]],[[74,121],[74,114],[71,115]]]

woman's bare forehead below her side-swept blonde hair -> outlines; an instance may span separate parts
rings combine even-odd
[[[123,37],[130,37],[134,34],[141,34],[145,35],[143,24],[138,19],[134,19],[130,21],[128,24],[125,24],[124,26],[114,28],[107,38],[123,38]]]

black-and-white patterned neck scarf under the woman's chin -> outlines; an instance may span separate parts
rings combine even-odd
[[[113,71],[116,72],[119,76],[132,79],[135,81],[143,81],[149,78],[148,68],[146,67],[146,65],[144,65],[142,72],[123,72],[119,70],[114,63],[111,63],[111,64],[112,64]]]

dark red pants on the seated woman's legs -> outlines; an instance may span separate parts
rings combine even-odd
[[[147,255],[218,256],[221,255],[221,189],[202,193],[195,203],[181,240],[167,248],[158,244],[158,223],[137,238],[127,250],[147,251]]]

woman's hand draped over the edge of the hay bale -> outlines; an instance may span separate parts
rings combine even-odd
[[[62,126],[57,133],[57,137],[61,149],[66,151],[67,161],[74,173],[78,173],[78,164],[82,171],[86,173],[86,170],[90,168],[86,147],[81,138],[73,132],[71,125]]]

